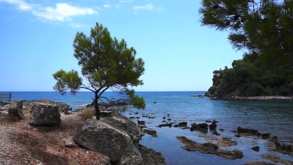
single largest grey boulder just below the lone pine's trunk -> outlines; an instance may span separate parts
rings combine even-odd
[[[110,124],[108,124],[110,123]],[[82,130],[75,136],[75,143],[110,157],[115,164],[142,164],[143,158],[118,120],[86,120]]]

